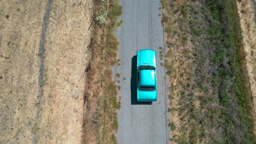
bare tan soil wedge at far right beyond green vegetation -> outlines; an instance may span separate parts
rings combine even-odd
[[[242,31],[243,47],[245,49],[249,82],[251,85],[252,97],[254,101],[254,111],[256,111],[256,26],[254,17],[256,11],[254,10],[253,4],[253,1],[236,2],[238,17],[241,19],[240,27]],[[254,134],[256,134],[255,127]]]

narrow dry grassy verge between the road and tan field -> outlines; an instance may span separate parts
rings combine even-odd
[[[92,114],[85,117],[87,122],[85,127],[91,128],[85,129],[85,141],[86,143],[95,141],[96,143],[117,143],[116,111],[120,109],[120,101],[116,96],[120,86],[116,86],[112,80],[111,67],[120,61],[117,59],[119,41],[114,35],[114,30],[123,23],[123,20],[117,22],[118,16],[122,13],[122,7],[117,0],[103,0],[95,1],[95,8],[96,15],[105,20],[96,19],[94,30],[95,39],[92,44],[92,61],[88,78],[89,85],[93,85],[90,86],[89,91],[94,94],[90,95],[86,101],[86,109]],[[106,11],[107,14],[105,14]],[[121,75],[115,76],[119,78]]]

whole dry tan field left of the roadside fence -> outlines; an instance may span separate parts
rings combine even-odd
[[[92,2],[51,3],[39,82],[47,4],[0,2],[0,143],[82,141]]]

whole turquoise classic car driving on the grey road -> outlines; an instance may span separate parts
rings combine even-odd
[[[137,51],[137,101],[156,101],[156,53]]]

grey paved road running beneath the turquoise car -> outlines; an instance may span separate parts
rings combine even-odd
[[[120,0],[120,4],[123,7],[120,19],[124,21],[117,31],[121,65],[114,68],[114,74],[121,75],[115,78],[121,86],[118,142],[168,143],[166,75],[160,65],[164,63],[161,5],[153,0]],[[152,49],[157,54],[158,100],[153,103],[136,101],[136,52],[141,49]]]

